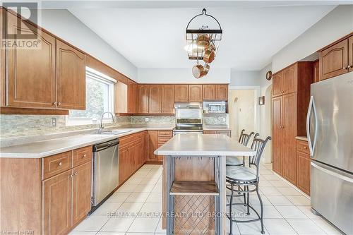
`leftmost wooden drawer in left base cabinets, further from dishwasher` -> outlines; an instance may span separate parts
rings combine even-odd
[[[51,176],[64,172],[72,167],[72,151],[63,152],[58,155],[44,157],[42,159],[42,178],[47,179]]]

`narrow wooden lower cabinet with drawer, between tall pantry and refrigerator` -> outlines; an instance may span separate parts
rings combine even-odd
[[[310,195],[310,162],[308,143],[297,140],[297,187],[308,195]]]

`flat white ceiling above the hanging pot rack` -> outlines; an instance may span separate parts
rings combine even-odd
[[[82,5],[81,5],[82,6]],[[335,6],[207,8],[223,29],[217,68],[261,70],[271,57]],[[69,11],[138,68],[189,68],[185,29],[202,8],[72,6]]]

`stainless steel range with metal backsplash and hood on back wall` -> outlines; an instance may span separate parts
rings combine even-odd
[[[186,133],[203,133],[202,103],[177,102],[175,108],[175,128],[173,135]]]

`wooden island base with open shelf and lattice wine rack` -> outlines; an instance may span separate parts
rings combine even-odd
[[[175,192],[173,189],[173,197],[174,197],[174,213],[179,213],[178,215],[184,215],[184,213],[194,212],[194,213],[212,213],[215,212],[215,195],[220,195],[220,198],[225,198],[225,191],[216,191],[213,188],[214,184],[210,182],[215,181],[215,159],[213,157],[171,157],[165,156],[163,158],[163,197],[162,197],[162,228],[167,229],[167,195],[168,191],[171,188],[167,187],[167,158],[170,157],[174,159],[174,182],[178,184],[180,188],[181,185],[187,184],[189,188],[182,188],[181,192]],[[225,157],[219,157],[220,164],[219,169],[220,179],[225,179],[223,176],[225,169]],[[222,178],[223,177],[223,178]],[[185,183],[185,181],[193,181],[192,183]],[[202,182],[201,182],[202,181]],[[207,190],[207,188],[201,188],[198,193],[196,193],[195,186],[199,183],[200,187],[209,187],[212,190]],[[175,185],[174,185],[175,186]],[[192,187],[190,187],[192,186]],[[222,187],[222,186],[221,186]],[[197,188],[197,187],[196,187]],[[188,191],[188,192],[186,192]],[[189,191],[192,191],[189,193]],[[212,191],[210,193],[210,191]],[[225,200],[220,200],[222,202],[222,206],[220,207],[220,211],[225,211]],[[224,204],[224,205],[223,205]],[[191,219],[191,218],[189,218]],[[195,228],[195,224],[208,224],[208,233],[206,234],[215,234],[215,217],[205,217],[200,219],[199,217],[195,217],[194,222],[188,222],[188,218],[179,217],[174,220],[174,234],[178,234],[177,231],[180,231],[180,226],[183,226],[184,231],[193,231],[192,234],[198,234],[197,229]],[[201,220],[201,221],[200,221]],[[220,219],[221,228],[223,229],[223,217]],[[205,226],[203,226],[204,228]],[[200,229],[202,226],[200,225]],[[222,230],[221,230],[222,231]],[[180,233],[181,234],[181,233]],[[183,235],[185,233],[182,233]],[[201,233],[200,233],[201,234]]]

